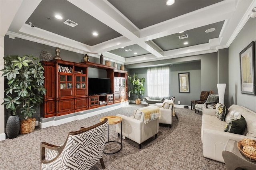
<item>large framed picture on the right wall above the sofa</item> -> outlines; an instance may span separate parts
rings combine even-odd
[[[240,76],[241,93],[255,95],[255,48],[254,42],[239,53],[240,55]]]

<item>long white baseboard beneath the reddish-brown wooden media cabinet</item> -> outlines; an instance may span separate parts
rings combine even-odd
[[[95,111],[94,111],[94,109],[80,111],[80,112],[77,112],[76,115],[70,116],[70,117],[66,117],[67,115],[58,116],[58,119],[57,119],[57,117],[53,117],[52,121],[48,121],[48,122],[44,122],[44,123],[38,121],[38,126],[40,128],[58,126],[58,125],[62,125],[64,123],[85,119],[85,118],[88,118],[88,117],[99,115],[101,113],[105,113],[105,112],[108,112],[108,111],[119,109],[120,107],[126,106],[128,104],[129,104],[128,102],[122,102],[122,103],[120,103],[120,105],[116,105],[114,107],[109,107],[109,108],[106,108],[106,109],[100,109],[100,110],[95,110]],[[89,112],[89,111],[91,111],[91,112]],[[89,113],[86,113],[86,112],[89,112]],[[65,117],[65,118],[62,119],[61,117]]]

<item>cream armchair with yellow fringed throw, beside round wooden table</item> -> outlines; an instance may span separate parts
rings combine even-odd
[[[116,115],[122,117],[122,135],[137,142],[141,148],[141,143],[148,140],[159,131],[160,109],[156,106],[143,107],[134,110],[133,116]],[[116,132],[121,133],[121,124],[116,124]],[[121,136],[122,137],[122,136]]]

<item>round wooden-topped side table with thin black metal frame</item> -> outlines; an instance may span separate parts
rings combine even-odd
[[[106,143],[109,143],[109,142],[119,143],[121,145],[121,148],[119,150],[115,151],[115,152],[105,152],[105,150],[103,152],[104,154],[115,154],[115,153],[119,152],[122,149],[122,117],[119,117],[119,116],[105,116],[105,117],[100,118],[100,121],[103,121],[105,118],[108,119],[108,125],[114,125],[114,124],[121,123],[121,142],[114,141],[114,140],[109,141],[109,130],[108,130],[108,142],[106,142]]]

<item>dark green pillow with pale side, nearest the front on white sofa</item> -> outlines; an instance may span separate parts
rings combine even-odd
[[[224,128],[224,132],[243,134],[246,127],[246,121],[244,117],[241,115],[240,119],[231,119],[228,121]]]

